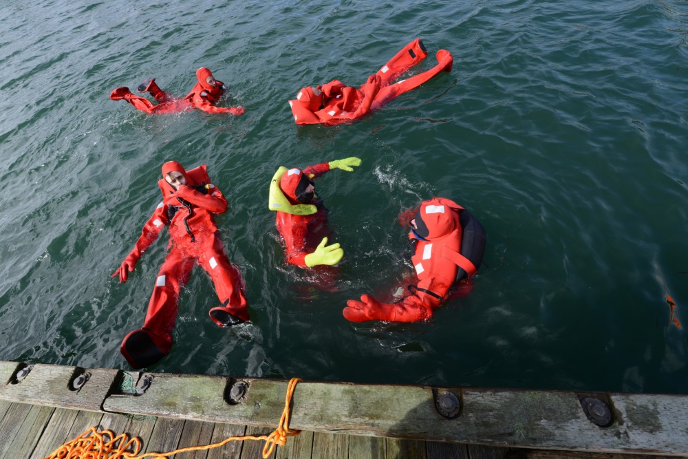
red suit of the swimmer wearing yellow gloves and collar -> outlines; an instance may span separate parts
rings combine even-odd
[[[282,175],[280,189],[291,204],[299,204],[297,186],[303,175],[312,180],[329,170],[329,162],[314,164],[303,171],[290,169]],[[323,200],[314,198],[309,204],[316,206],[318,211],[312,215],[294,215],[278,211],[275,217],[277,231],[286,245],[288,263],[301,266],[301,268],[308,268],[305,264],[305,256],[315,250],[323,237],[330,235],[330,230],[327,228],[327,209],[323,206]]]

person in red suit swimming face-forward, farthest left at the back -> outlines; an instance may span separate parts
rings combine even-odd
[[[206,67],[201,67],[196,70],[196,78],[198,83],[191,89],[189,94],[184,98],[175,98],[168,92],[164,92],[155,83],[155,78],[151,81],[142,83],[138,87],[138,92],[149,92],[158,101],[155,105],[147,98],[137,96],[129,91],[128,87],[122,86],[114,89],[110,94],[112,100],[124,99],[137,109],[145,111],[149,115],[160,115],[179,113],[180,111],[191,110],[194,108],[207,111],[208,113],[229,113],[233,115],[241,115],[244,113],[244,107],[215,107],[219,102],[219,98],[224,94],[226,86],[222,81],[215,80],[215,77]]]

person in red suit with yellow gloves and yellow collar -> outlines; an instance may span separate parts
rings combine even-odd
[[[270,182],[271,211],[277,211],[277,231],[284,239],[287,261],[301,268],[337,264],[344,256],[338,243],[327,246],[327,209],[315,194],[314,178],[332,169],[352,172],[358,158],[314,164],[303,171],[280,167]]]

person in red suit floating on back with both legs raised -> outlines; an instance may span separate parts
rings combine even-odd
[[[297,98],[289,101],[297,125],[325,123],[337,125],[356,120],[379,109],[400,94],[414,89],[440,72],[451,72],[453,58],[447,50],[437,52],[438,64],[416,76],[394,83],[394,80],[427,57],[420,39],[411,41],[404,49],[368,77],[361,89],[333,80],[318,87],[304,87]]]

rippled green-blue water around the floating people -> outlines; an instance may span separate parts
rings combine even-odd
[[[0,359],[127,368],[165,255],[110,279],[160,201],[166,160],[208,164],[251,323],[217,328],[196,268],[149,370],[688,393],[688,3],[36,0],[0,11]],[[450,74],[354,125],[297,127],[299,88],[360,85],[420,36]],[[210,67],[243,105],[146,116],[114,87],[186,94]],[[316,183],[345,248],[339,290],[286,266],[278,166],[359,156]],[[400,211],[441,195],[488,232],[466,299],[429,323],[345,321],[412,272]]]

